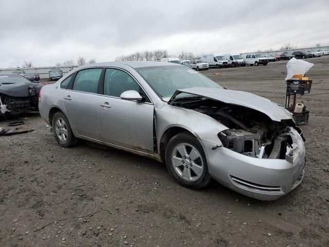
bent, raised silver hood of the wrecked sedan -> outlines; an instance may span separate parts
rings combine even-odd
[[[208,87],[191,87],[190,89],[177,90],[168,102],[172,102],[179,93],[189,93],[228,104],[241,105],[242,107],[262,112],[273,121],[292,118],[291,114],[283,107],[280,107],[280,105],[269,99],[243,91],[210,89]]]

